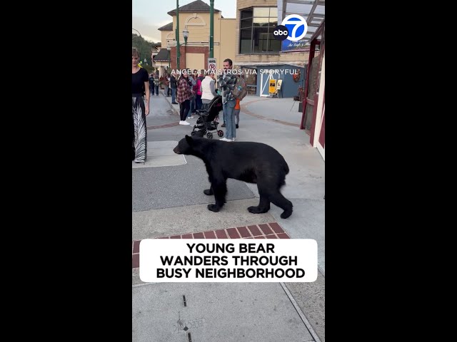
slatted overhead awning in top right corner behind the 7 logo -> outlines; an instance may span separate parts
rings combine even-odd
[[[298,14],[306,19],[308,24],[308,32],[303,38],[306,43],[311,42],[311,38],[321,26],[326,14],[326,1],[325,0],[278,0],[278,25],[283,21],[286,16],[290,14]],[[321,39],[319,33],[318,39]]]

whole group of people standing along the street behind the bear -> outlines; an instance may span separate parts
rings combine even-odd
[[[222,95],[224,123],[226,137],[222,141],[233,142],[236,140],[236,128],[239,123],[239,100],[233,97],[233,87],[236,84],[236,75],[230,73],[233,62],[227,58],[224,61],[224,73],[218,78],[219,89],[216,88],[214,72],[205,71],[198,73],[194,70],[191,74],[184,70],[176,79],[175,75],[165,74],[160,77],[156,73],[148,75],[146,69],[139,66],[140,53],[132,48],[132,160],[146,162],[146,116],[149,115],[149,100],[151,95],[159,95],[159,87],[164,85],[164,94],[170,95],[171,103],[179,104],[179,125],[190,125],[187,118],[193,118],[196,110],[208,110],[209,103],[216,95]]]

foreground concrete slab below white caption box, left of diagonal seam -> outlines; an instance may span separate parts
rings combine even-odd
[[[134,286],[132,342],[184,342],[189,341],[189,333],[196,342],[315,341],[280,284],[234,285]]]

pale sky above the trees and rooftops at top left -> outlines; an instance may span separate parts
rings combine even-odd
[[[194,0],[179,0],[179,7],[190,4]],[[202,0],[209,5],[209,0]],[[214,8],[221,11],[224,18],[236,18],[236,0],[214,0]],[[161,31],[157,28],[171,23],[173,17],[166,12],[176,9],[174,0],[132,0],[131,21],[146,41],[161,41]],[[132,30],[132,33],[137,33]]]

